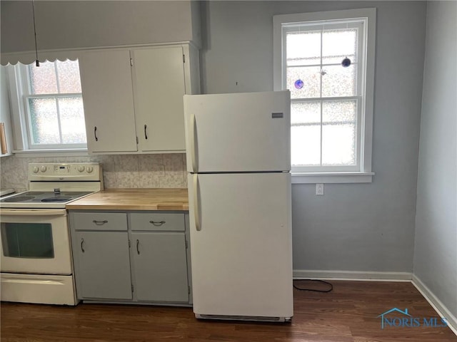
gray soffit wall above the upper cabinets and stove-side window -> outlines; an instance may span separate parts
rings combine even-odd
[[[198,12],[190,1],[35,1],[38,48],[199,44]],[[31,1],[2,0],[1,52],[34,50]]]

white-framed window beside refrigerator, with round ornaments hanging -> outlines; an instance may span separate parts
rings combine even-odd
[[[304,182],[371,180],[375,14],[274,16],[275,89],[291,91],[292,172],[314,177]]]

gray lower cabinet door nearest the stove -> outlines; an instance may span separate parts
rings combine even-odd
[[[76,232],[79,299],[132,299],[127,232]]]

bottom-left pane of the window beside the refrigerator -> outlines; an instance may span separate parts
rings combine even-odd
[[[312,166],[321,163],[321,125],[291,127],[291,164]]]

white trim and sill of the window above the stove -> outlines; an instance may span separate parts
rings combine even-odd
[[[6,68],[6,83],[9,86],[9,100],[11,107],[11,121],[13,126],[14,149],[13,153],[21,157],[61,157],[68,155],[89,155],[87,147],[55,148],[31,148],[28,142],[26,104],[24,103],[24,79],[26,78],[26,66],[17,63],[15,66],[1,66]]]

